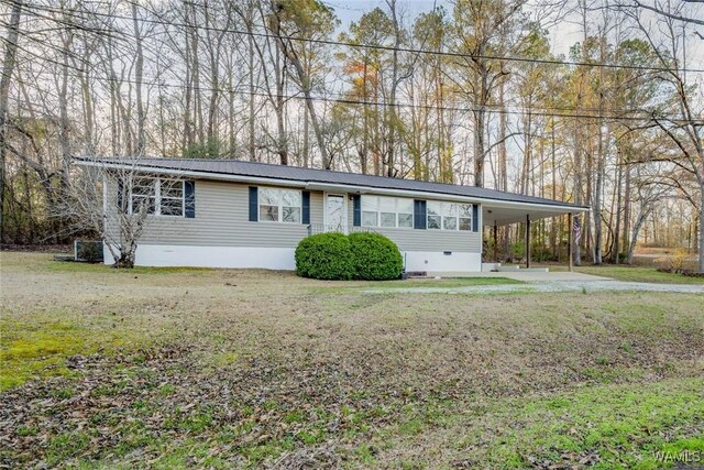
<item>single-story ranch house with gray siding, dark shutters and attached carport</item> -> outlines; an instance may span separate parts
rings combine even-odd
[[[150,200],[136,251],[136,264],[148,266],[294,270],[305,237],[370,230],[396,242],[407,272],[479,272],[482,227],[588,210],[473,186],[238,160],[76,160],[145,175],[123,194],[127,210]],[[106,197],[119,185],[109,182]],[[113,262],[107,250],[105,259]]]

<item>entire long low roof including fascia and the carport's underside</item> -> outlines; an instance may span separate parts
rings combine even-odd
[[[417,197],[442,198],[452,196],[477,203],[490,203],[484,207],[484,223],[512,223],[525,220],[527,214],[531,218],[551,217],[559,214],[581,212],[588,207],[576,206],[553,199],[507,193],[496,189],[463,186],[443,183],[421,182],[416,179],[392,178],[385,176],[361,175],[356,173],[334,172],[327,170],[302,168],[298,166],[273,165],[246,162],[232,159],[119,159],[119,157],[76,157],[79,164],[109,167],[134,167],[150,172],[166,171],[178,173],[184,177],[205,179],[227,179],[248,182],[252,179],[272,179],[272,184],[289,184],[311,189],[341,190],[348,193],[416,194]],[[260,181],[260,183],[262,183]],[[499,212],[501,209],[501,214]],[[488,210],[492,210],[490,214]],[[520,215],[520,217],[519,217]]]

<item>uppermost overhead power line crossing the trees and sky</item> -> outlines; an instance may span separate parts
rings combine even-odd
[[[12,3],[15,1],[16,0],[10,0],[10,2]],[[140,9],[145,10],[146,12],[158,17],[158,13],[146,9],[144,6],[138,2],[134,2],[133,0],[128,0],[128,3],[135,4]],[[66,11],[57,8],[37,6],[37,4],[31,4],[31,3],[23,3],[23,4],[24,4],[24,8],[29,8],[29,9],[40,9],[40,10],[50,11],[54,13],[61,13],[64,15],[68,14],[68,15],[73,15],[74,18],[78,18],[80,20],[86,20],[85,17],[80,17],[79,14],[77,14],[78,13],[77,11]],[[119,15],[119,14],[112,14],[112,13],[100,13],[96,11],[86,11],[86,13],[90,15],[112,18],[112,19],[119,19],[119,20],[125,20],[125,21],[134,20],[132,17],[125,17],[125,15]],[[395,47],[395,46],[387,46],[382,44],[358,44],[353,42],[322,40],[322,39],[312,39],[312,37],[279,36],[276,34],[265,33],[265,32],[246,31],[246,30],[239,30],[239,29],[232,29],[232,28],[224,29],[224,28],[217,28],[217,26],[196,25],[196,24],[175,22],[170,20],[165,21],[165,20],[155,20],[155,19],[148,19],[148,18],[139,18],[138,20],[141,22],[151,23],[151,24],[189,28],[189,29],[207,30],[207,31],[215,31],[215,32],[221,32],[221,33],[251,35],[255,37],[266,37],[266,39],[284,37],[287,41],[305,42],[305,43],[311,43],[311,44],[323,44],[323,45],[331,45],[331,46],[345,46],[345,47],[353,47],[353,48],[378,50],[378,51],[388,51],[388,52],[404,52],[404,53],[411,53],[411,54],[427,54],[427,55],[437,55],[437,56],[464,58],[464,59],[482,58],[486,61],[516,62],[516,63],[558,65],[558,66],[571,66],[571,67],[602,67],[602,68],[640,70],[640,72],[666,72],[666,73],[673,73],[673,72],[685,73],[686,72],[686,73],[693,73],[693,74],[704,73],[703,68],[656,67],[656,66],[646,66],[646,65],[607,64],[607,63],[598,63],[598,62],[558,61],[558,59],[550,59],[550,58],[529,58],[529,57],[501,56],[501,55],[487,55],[487,54],[466,54],[466,53],[450,52],[450,51],[429,51],[429,50],[421,50],[421,48],[414,48],[414,47]]]

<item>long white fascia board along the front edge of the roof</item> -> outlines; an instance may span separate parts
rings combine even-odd
[[[124,168],[124,165],[114,164],[114,163],[101,163],[101,162],[91,162],[91,161],[78,161],[79,165],[86,166],[99,166],[103,168],[114,168],[120,170]],[[433,192],[421,192],[421,190],[411,190],[411,189],[393,189],[393,188],[378,188],[371,186],[354,186],[354,185],[344,185],[344,184],[336,184],[336,183],[317,183],[317,182],[304,182],[304,181],[292,181],[292,179],[277,179],[277,178],[267,178],[261,176],[245,176],[245,175],[226,175],[221,173],[209,173],[209,172],[189,172],[189,171],[178,171],[178,170],[169,170],[169,168],[161,168],[157,166],[147,166],[147,165],[134,165],[134,171],[145,171],[153,173],[161,173],[164,175],[175,175],[178,177],[190,177],[190,178],[202,178],[202,179],[216,179],[223,182],[233,182],[233,183],[256,183],[270,186],[287,186],[287,187],[297,187],[310,190],[327,190],[327,192],[340,192],[340,193],[349,193],[349,194],[381,194],[381,195],[389,195],[389,196],[407,196],[407,197],[421,197],[421,198],[431,198],[438,200],[451,200],[457,203],[472,203],[472,204],[483,204],[486,207],[522,207],[526,209],[543,209],[550,210],[554,209],[554,212],[558,214],[566,214],[566,212],[587,212],[590,209],[587,207],[575,207],[575,206],[562,206],[559,204],[539,204],[539,203],[521,203],[514,200],[501,200],[501,199],[491,199],[483,197],[469,197],[469,196],[459,196],[451,195],[444,193],[433,193]]]

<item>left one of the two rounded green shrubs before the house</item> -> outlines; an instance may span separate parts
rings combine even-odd
[[[350,240],[343,233],[319,233],[305,238],[296,248],[296,272],[316,280],[354,277]]]

